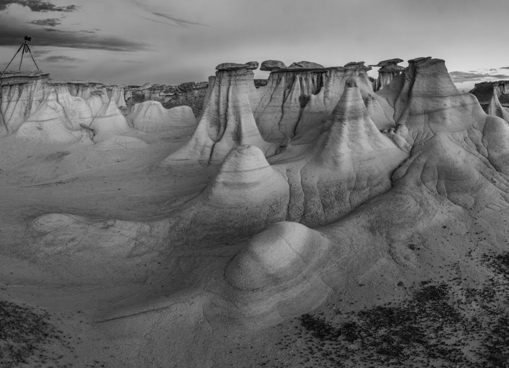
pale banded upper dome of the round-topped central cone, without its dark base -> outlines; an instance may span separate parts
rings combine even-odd
[[[258,147],[243,145],[224,158],[202,198],[214,206],[261,205],[286,197],[288,189],[287,181]]]

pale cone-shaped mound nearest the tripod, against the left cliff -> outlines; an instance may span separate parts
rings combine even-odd
[[[54,144],[72,144],[82,139],[89,140],[86,132],[72,130],[64,107],[57,101],[54,89],[49,91],[34,114],[19,126],[14,136],[38,143]]]

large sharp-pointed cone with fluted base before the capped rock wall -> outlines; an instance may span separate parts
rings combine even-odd
[[[288,219],[324,225],[391,187],[408,154],[380,133],[357,87],[346,87],[319,137],[298,157],[270,160],[290,183]]]

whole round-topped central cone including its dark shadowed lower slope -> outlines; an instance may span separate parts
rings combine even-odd
[[[287,216],[290,191],[256,146],[233,148],[207,187],[169,219],[175,239],[189,244],[215,240],[225,234],[242,237]],[[190,231],[190,227],[204,232]],[[183,234],[178,230],[185,230]]]

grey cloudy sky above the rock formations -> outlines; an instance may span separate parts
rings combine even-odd
[[[509,79],[508,9],[509,0],[0,0],[0,72],[29,35],[55,79],[176,85],[224,62],[406,66],[433,56],[468,91]],[[28,54],[21,69],[36,69]]]

